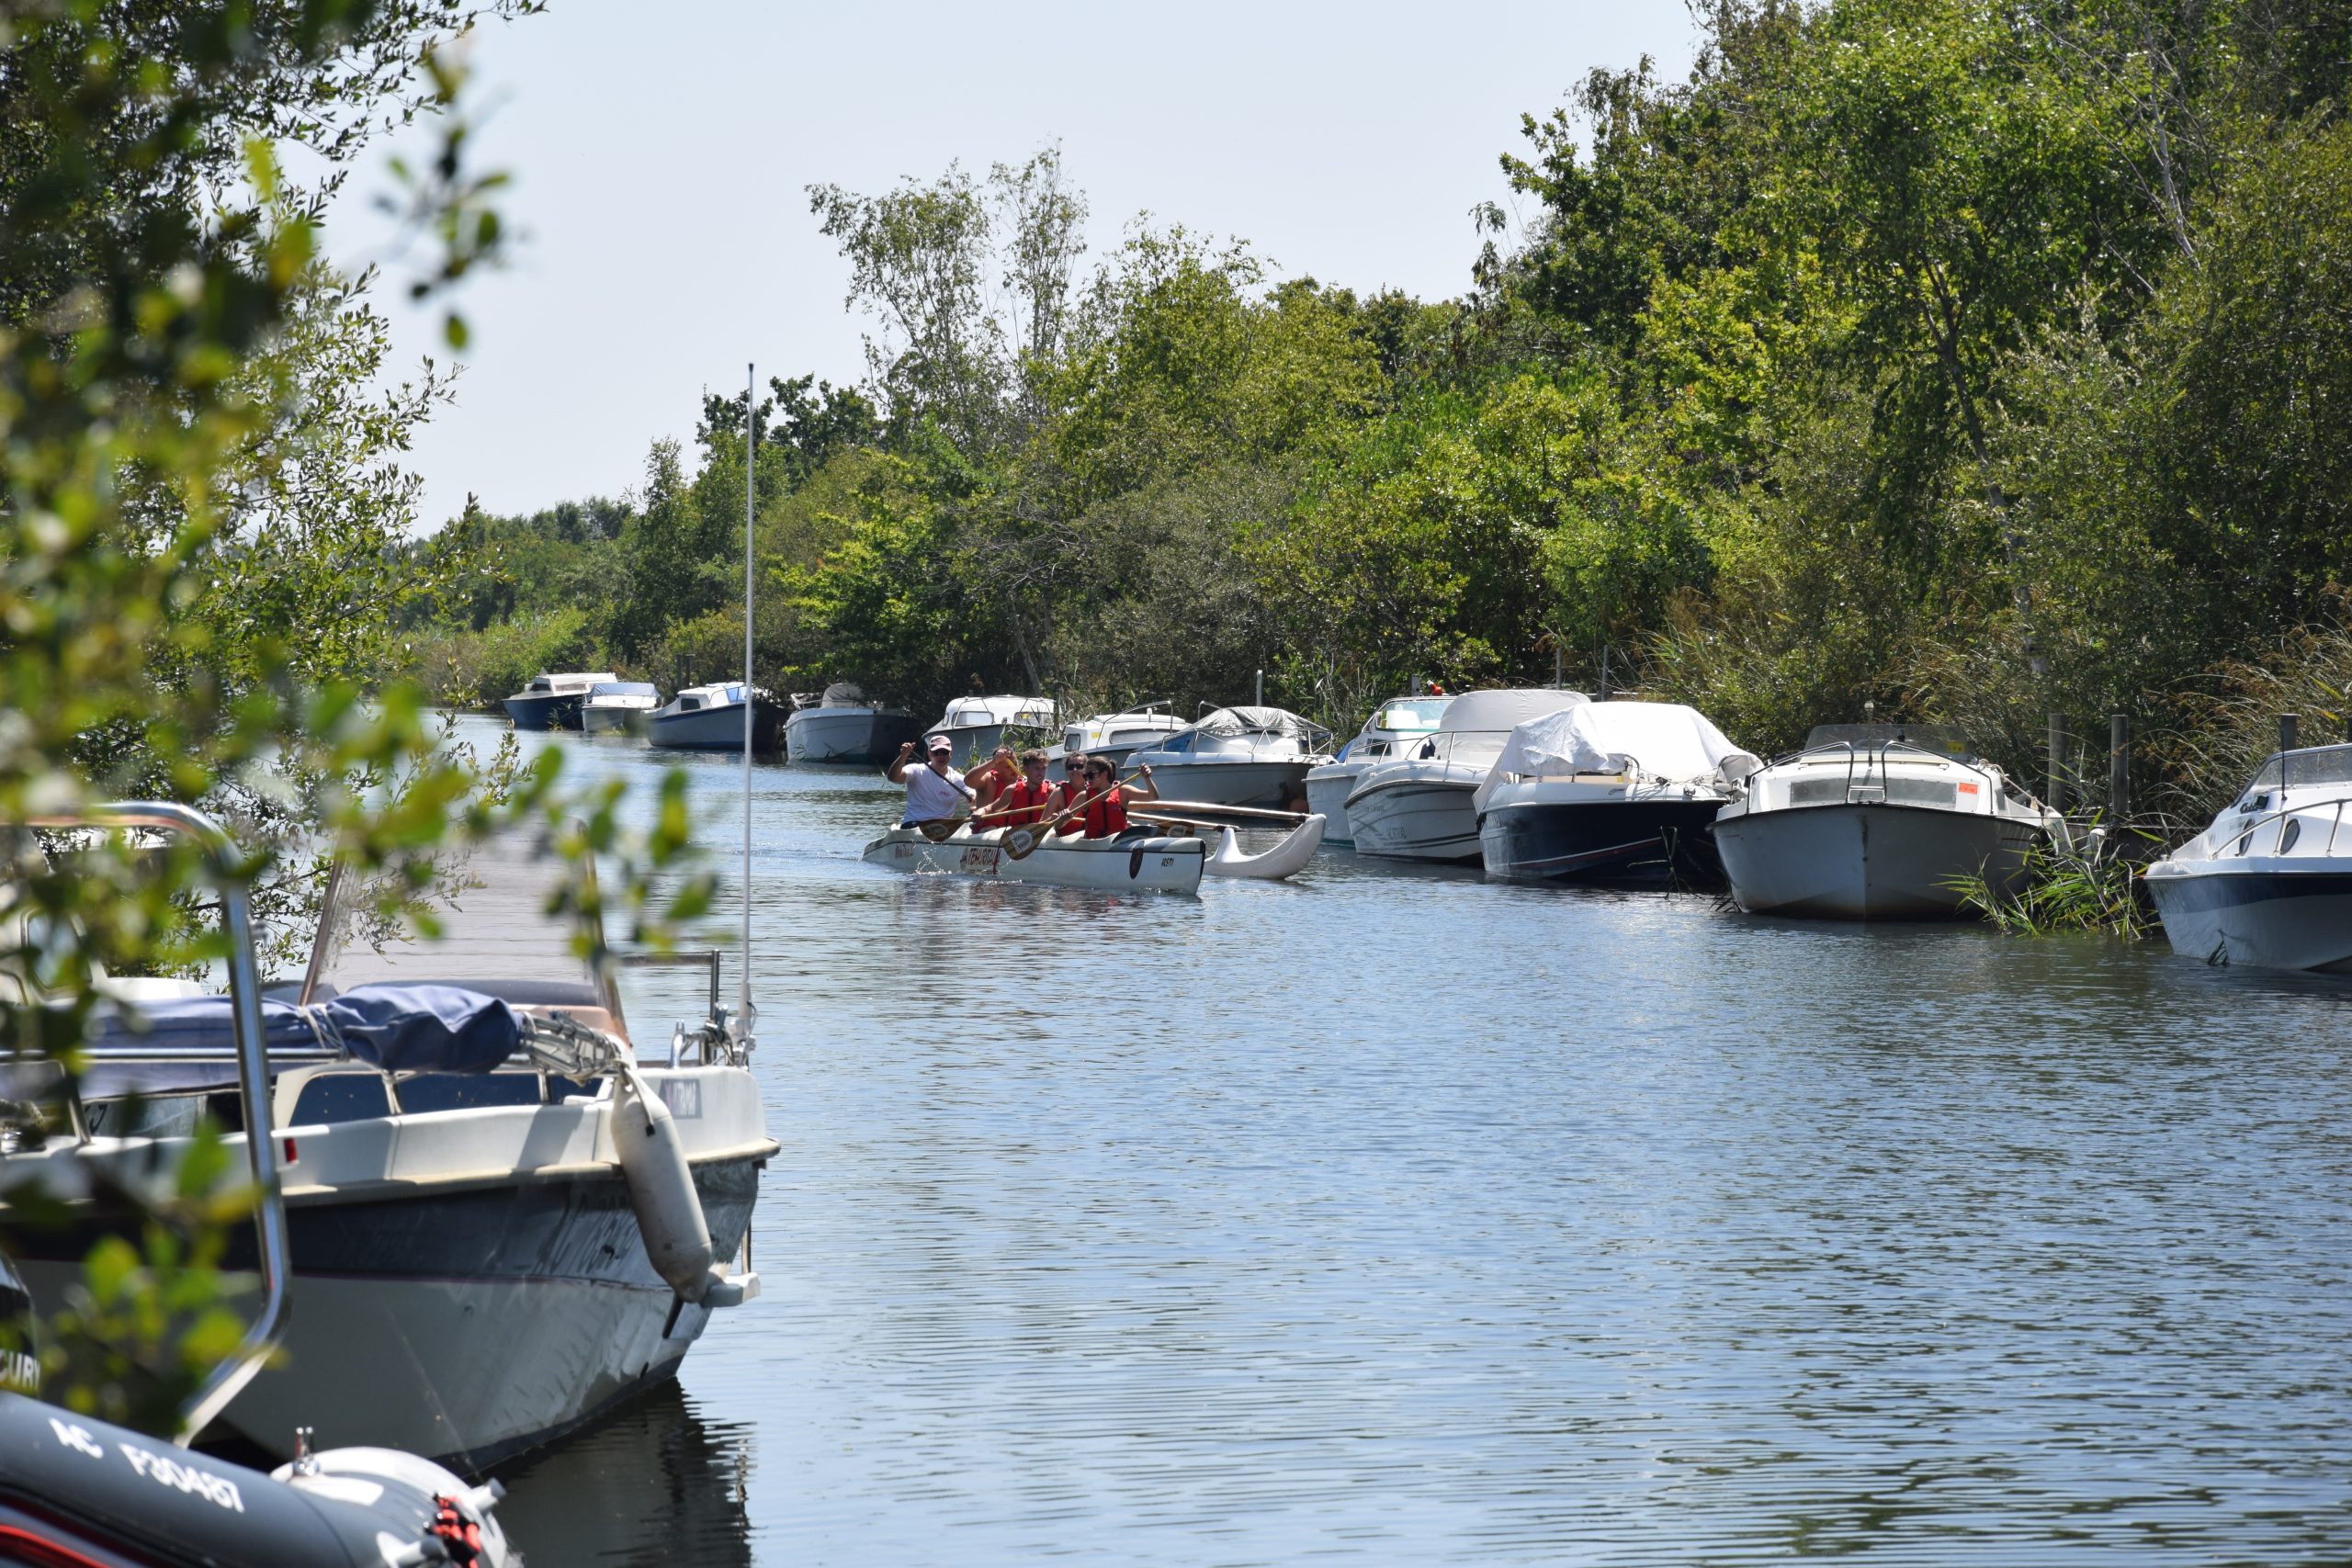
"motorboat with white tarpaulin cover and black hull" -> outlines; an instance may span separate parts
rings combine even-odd
[[[1479,858],[1503,882],[1719,882],[1715,813],[1759,766],[1682,703],[1562,708],[1512,729],[1472,795]]]

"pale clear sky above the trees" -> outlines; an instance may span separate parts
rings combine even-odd
[[[847,268],[804,188],[875,193],[1049,141],[1094,209],[1094,256],[1136,212],[1240,235],[1284,275],[1458,294],[1496,158],[1592,66],[1679,75],[1682,0],[1519,5],[626,5],[555,0],[473,49],[480,162],[506,167],[522,244],[468,282],[459,404],[409,454],[428,527],[619,494],[703,388],[863,371]],[[329,247],[381,244],[365,202]],[[400,364],[437,315],[395,320]]]

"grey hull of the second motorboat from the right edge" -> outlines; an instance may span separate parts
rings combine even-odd
[[[2042,837],[2006,816],[1933,806],[1785,806],[1715,818],[1731,898],[1750,914],[1964,919],[1964,877],[2013,893]]]

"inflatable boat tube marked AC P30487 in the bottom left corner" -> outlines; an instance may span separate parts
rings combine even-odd
[[[0,1561],[75,1568],[517,1568],[466,1486],[390,1448],[332,1448],[270,1474],[0,1394]]]

